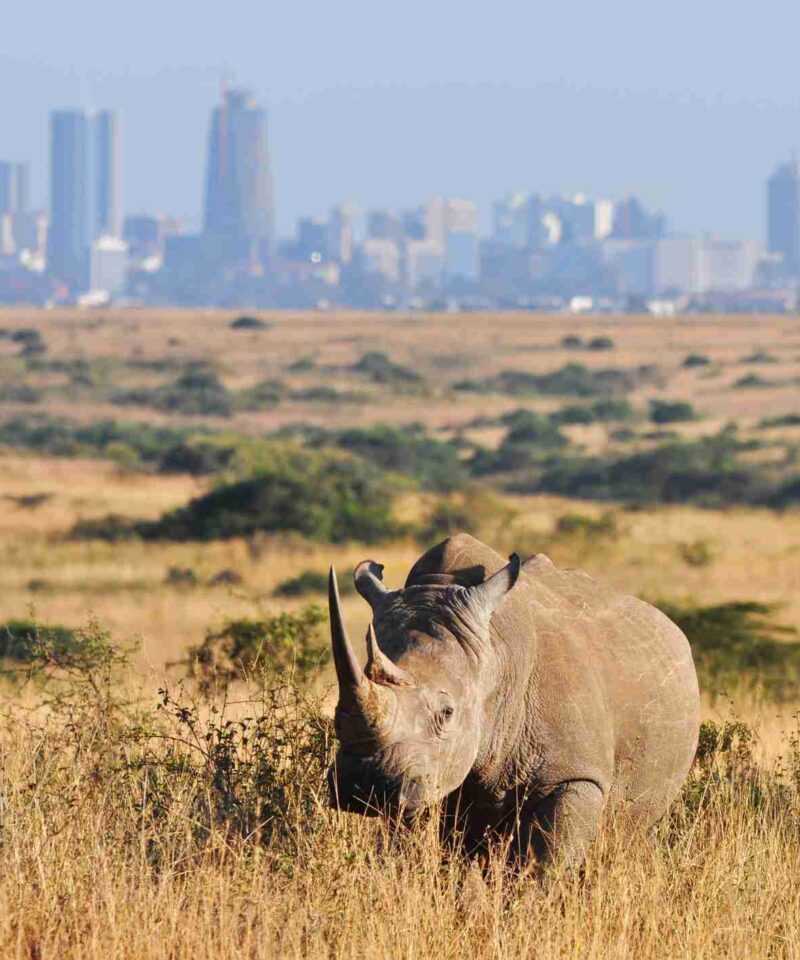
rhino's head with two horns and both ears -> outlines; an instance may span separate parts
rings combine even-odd
[[[340,743],[328,773],[334,807],[367,815],[387,808],[410,813],[464,782],[489,736],[486,707],[497,672],[489,623],[519,570],[513,554],[507,566],[475,585],[389,591],[383,567],[365,560],[355,573],[373,613],[362,670],[331,568]]]

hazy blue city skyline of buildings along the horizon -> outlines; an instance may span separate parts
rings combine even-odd
[[[800,165],[767,182],[767,246],[670,232],[636,197],[509,194],[488,236],[477,204],[332,207],[275,236],[266,112],[223,87],[211,114],[203,224],[125,216],[113,111],[50,116],[46,210],[29,168],[0,162],[0,302],[582,310],[794,310]]]

